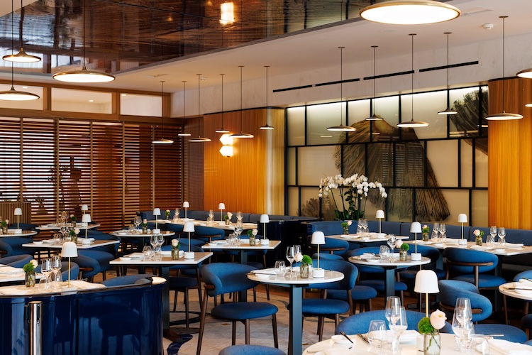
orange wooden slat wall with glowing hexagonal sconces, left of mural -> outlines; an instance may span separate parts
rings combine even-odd
[[[270,124],[276,127],[272,131],[259,129],[265,124],[265,114],[265,109],[242,111],[242,129],[240,111],[223,114],[225,129],[255,136],[234,139],[232,158],[225,158],[219,152],[221,133],[215,131],[221,127],[221,114],[204,116],[204,136],[212,139],[211,143],[204,145],[204,209],[216,210],[218,203],[223,202],[230,212],[284,214],[284,153],[279,153],[284,151],[284,111],[272,110]],[[275,150],[270,147],[270,166],[269,146],[275,146]],[[273,170],[274,180],[270,183],[267,181],[268,169]]]

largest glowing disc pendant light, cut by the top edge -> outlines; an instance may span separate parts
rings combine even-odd
[[[421,25],[449,21],[460,16],[459,9],[440,1],[391,0],[371,3],[360,11],[360,17],[379,23]]]

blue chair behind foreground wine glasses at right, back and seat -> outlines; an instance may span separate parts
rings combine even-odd
[[[440,306],[447,315],[453,319],[453,312],[458,297],[466,297],[471,301],[472,322],[481,322],[492,315],[492,302],[485,296],[480,295],[478,288],[472,283],[461,280],[440,280]],[[509,342],[526,342],[527,337],[521,329],[506,324],[475,324],[477,334],[504,334],[504,340]]]

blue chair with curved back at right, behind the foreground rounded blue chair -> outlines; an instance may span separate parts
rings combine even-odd
[[[447,248],[443,251],[443,256],[447,258],[445,278],[454,276],[454,280],[472,283],[479,289],[498,288],[506,283],[504,278],[488,273],[497,268],[497,255],[479,250]]]

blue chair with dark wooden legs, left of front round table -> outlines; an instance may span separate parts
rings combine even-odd
[[[278,309],[275,305],[267,302],[236,302],[237,293],[254,288],[257,283],[246,275],[255,268],[235,263],[210,263],[201,266],[201,275],[205,283],[204,300],[201,305],[201,317],[199,323],[199,337],[196,354],[201,354],[201,342],[205,329],[205,316],[210,297],[216,297],[223,293],[233,293],[233,302],[216,305],[211,310],[211,317],[233,322],[232,344],[235,345],[236,322],[243,322],[245,326],[245,344],[250,344],[250,320],[255,318],[272,316],[273,339],[275,347],[277,342],[277,317]]]

